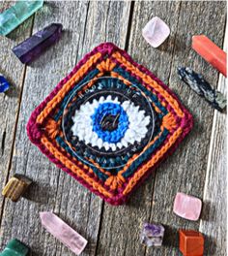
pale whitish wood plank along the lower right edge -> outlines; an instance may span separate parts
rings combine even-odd
[[[227,52],[228,33],[224,41]],[[227,93],[226,79],[219,76],[217,89]],[[227,255],[227,115],[215,112],[204,190],[200,231],[206,236],[206,255]]]

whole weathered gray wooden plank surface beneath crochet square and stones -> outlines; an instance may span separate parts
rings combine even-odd
[[[205,255],[226,255],[225,114],[214,112],[176,75],[179,65],[191,66],[216,86],[217,72],[190,48],[190,43],[192,35],[204,33],[222,47],[225,5],[225,2],[47,2],[10,38],[1,38],[0,72],[14,86],[9,94],[0,95],[0,189],[15,172],[36,181],[27,198],[16,204],[0,198],[2,248],[16,237],[30,244],[32,255],[73,255],[41,227],[39,211],[53,210],[89,240],[82,254],[85,256],[176,256],[179,228],[200,229],[207,235]],[[6,6],[9,2],[1,2],[0,10]],[[157,49],[151,48],[141,36],[143,26],[152,16],[160,16],[171,28],[170,37]],[[25,68],[11,48],[54,21],[62,22],[66,28],[63,38]],[[136,61],[164,80],[195,120],[193,131],[174,155],[160,165],[126,206],[118,208],[103,203],[49,163],[28,141],[25,132],[31,112],[54,85],[86,52],[105,41],[128,49]],[[219,89],[225,91],[225,81],[219,84]],[[177,191],[204,198],[201,222],[189,222],[172,213]],[[167,227],[162,248],[146,249],[140,244],[143,221],[161,222]]]

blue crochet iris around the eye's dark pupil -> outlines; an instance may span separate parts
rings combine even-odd
[[[113,131],[104,129],[105,117],[113,116]],[[102,103],[91,116],[93,120],[93,131],[106,143],[116,144],[121,141],[128,130],[128,114],[119,104],[107,102]],[[118,122],[116,125],[115,122]],[[116,126],[116,127],[115,127]]]

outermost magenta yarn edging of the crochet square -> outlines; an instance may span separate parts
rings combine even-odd
[[[181,123],[181,127],[183,128],[183,133],[182,135],[177,139],[177,141],[175,142],[175,144],[173,144],[168,151],[162,156],[162,158],[155,164],[155,166],[153,166],[150,170],[148,170],[144,176],[142,176],[140,178],[140,180],[138,181],[138,183],[133,187],[133,189],[128,193],[128,195],[124,196],[122,194],[122,192],[124,191],[128,180],[130,179],[130,176],[127,179],[127,182],[125,182],[125,185],[123,186],[122,189],[120,189],[118,192],[119,194],[117,194],[116,196],[112,197],[112,198],[107,198],[104,195],[102,195],[98,190],[94,189],[93,186],[91,186],[90,184],[88,184],[84,179],[82,179],[80,176],[76,176],[75,174],[73,174],[71,172],[71,170],[69,170],[66,166],[64,166],[59,160],[57,160],[52,154],[51,152],[49,152],[49,150],[41,143],[40,139],[42,137],[42,130],[41,128],[41,124],[38,124],[36,122],[36,119],[38,117],[38,115],[43,111],[43,108],[45,107],[45,105],[47,104],[47,102],[49,102],[57,93],[58,91],[62,88],[62,86],[68,81],[71,80],[71,77],[80,69],[81,66],[83,66],[88,59],[90,59],[91,56],[93,56],[94,54],[96,54],[97,52],[101,53],[100,58],[96,61],[96,63],[94,63],[87,71],[86,74],[88,74],[88,72],[90,72],[103,58],[103,54],[108,54],[109,56],[111,56],[111,53],[114,50],[118,50],[120,53],[123,54],[123,56],[128,60],[128,62],[130,62],[133,66],[136,66],[141,72],[147,74],[148,76],[150,76],[153,80],[156,80],[157,83],[159,85],[161,85],[179,104],[179,107],[181,108],[181,110],[185,113],[185,116],[181,118],[182,123]],[[83,74],[83,76],[80,78],[82,79],[84,76],[86,76],[86,74]],[[136,77],[137,78],[137,77]],[[73,85],[72,85],[73,86]],[[184,106],[182,105],[182,103],[180,102],[180,100],[178,99],[178,97],[175,95],[174,92],[172,92],[169,87],[167,85],[165,85],[161,80],[157,79],[157,77],[150,72],[148,69],[146,69],[144,66],[136,63],[135,61],[132,60],[132,58],[128,55],[128,53],[121,49],[116,47],[115,45],[113,45],[112,43],[102,43],[100,44],[100,46],[98,46],[97,48],[94,48],[91,52],[87,53],[83,59],[81,59],[78,64],[73,68],[73,70],[71,71],[71,73],[63,80],[61,80],[57,86],[54,88],[54,90],[43,100],[43,102],[35,109],[34,112],[32,112],[31,117],[29,118],[29,121],[27,123],[27,134],[28,137],[30,139],[30,141],[33,144],[36,144],[40,150],[43,152],[43,154],[45,154],[48,159],[53,162],[57,167],[59,167],[60,169],[62,169],[64,172],[68,173],[69,175],[73,176],[77,181],[79,181],[82,185],[84,185],[85,187],[87,187],[88,189],[90,189],[90,191],[94,192],[96,195],[100,196],[103,200],[105,200],[106,202],[108,202],[111,205],[121,205],[124,204],[126,202],[126,200],[128,199],[129,195],[132,193],[132,191],[134,191],[148,176],[151,175],[151,173],[157,168],[157,166],[160,164],[160,162],[162,162],[164,159],[167,158],[168,155],[172,154],[173,151],[175,151],[175,149],[178,147],[178,145],[184,140],[185,136],[187,133],[189,133],[189,131],[191,130],[193,126],[193,119],[192,116],[189,112],[187,112],[184,108]],[[63,153],[65,154],[65,153]],[[65,154],[67,155],[67,153]],[[152,155],[153,157],[153,155]],[[150,159],[148,159],[146,161],[146,163],[149,161]],[[83,170],[83,168],[82,168]],[[138,172],[140,170],[140,167],[137,169],[136,172]],[[85,171],[83,171],[85,172]],[[135,172],[135,173],[136,173]],[[134,174],[135,174],[134,173]],[[88,174],[89,175],[89,174]],[[95,177],[93,177],[95,178]],[[100,182],[100,180],[97,180],[100,184],[102,184]],[[102,184],[103,185],[103,184]],[[108,191],[108,190],[107,190]],[[110,191],[108,191],[109,193],[111,193]]]

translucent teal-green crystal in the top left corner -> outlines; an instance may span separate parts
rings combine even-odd
[[[43,7],[40,1],[17,1],[14,6],[0,14],[0,35],[6,36],[29,16]]]

